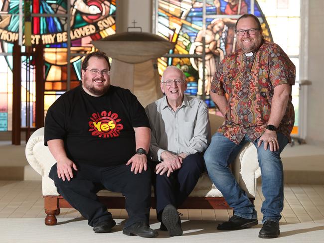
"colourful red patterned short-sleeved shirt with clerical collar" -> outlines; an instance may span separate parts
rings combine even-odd
[[[211,82],[211,91],[229,96],[225,122],[218,132],[239,144],[245,135],[251,141],[265,131],[271,112],[274,88],[295,84],[295,65],[275,43],[263,40],[248,57],[242,49],[227,55]],[[290,93],[286,113],[277,129],[291,141],[295,121]]]

